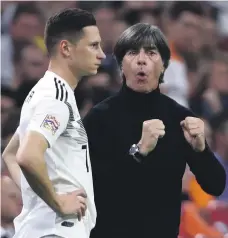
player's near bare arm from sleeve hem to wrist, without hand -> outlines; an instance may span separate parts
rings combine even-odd
[[[39,132],[30,131],[22,141],[17,153],[17,163],[33,191],[42,198],[55,212],[61,208],[49,179],[44,153],[48,142]]]

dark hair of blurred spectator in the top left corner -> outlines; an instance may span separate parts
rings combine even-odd
[[[23,14],[36,15],[40,20],[43,20],[40,11],[33,4],[23,3],[18,4],[13,15],[12,23],[17,22]]]

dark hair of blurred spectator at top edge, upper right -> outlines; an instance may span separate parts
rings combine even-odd
[[[204,15],[202,3],[200,2],[173,2],[168,10],[172,20],[177,20],[183,12],[190,12],[198,16]]]

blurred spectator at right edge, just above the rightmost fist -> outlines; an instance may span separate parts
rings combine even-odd
[[[207,119],[228,108],[228,54],[217,51],[210,61],[198,75],[200,80],[190,99],[191,109]]]

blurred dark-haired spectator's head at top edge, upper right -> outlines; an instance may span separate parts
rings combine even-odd
[[[168,8],[167,34],[178,54],[197,52],[202,44],[204,9],[201,2],[173,2]]]

